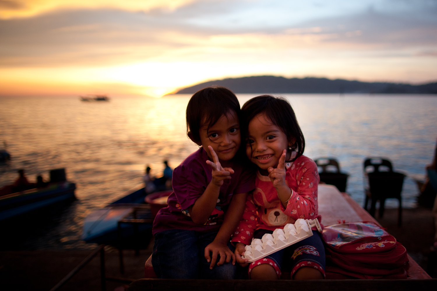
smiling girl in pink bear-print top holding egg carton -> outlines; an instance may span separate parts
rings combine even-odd
[[[247,126],[246,155],[258,168],[255,190],[248,195],[246,209],[232,242],[237,262],[252,238],[262,238],[296,219],[320,220],[317,213],[319,175],[314,161],[305,157],[305,139],[290,104],[269,95],[247,101],[242,108]],[[249,266],[251,279],[281,277],[288,265],[294,279],[323,279],[325,252],[319,232],[257,260]]]

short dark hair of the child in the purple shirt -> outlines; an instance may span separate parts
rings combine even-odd
[[[200,143],[199,130],[203,119],[205,118],[209,129],[223,114],[232,111],[237,114],[241,127],[240,103],[231,90],[213,86],[195,92],[187,105],[187,134],[191,131],[194,141]]]

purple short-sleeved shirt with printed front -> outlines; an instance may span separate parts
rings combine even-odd
[[[220,187],[217,204],[205,225],[191,220],[188,208],[205,192],[212,179],[210,160],[203,148],[190,154],[173,170],[171,184],[173,193],[168,197],[168,207],[161,209],[153,222],[153,235],[167,229],[187,229],[200,232],[218,231],[231,202],[232,195],[255,189],[255,175],[245,170],[240,163],[232,162],[232,179],[226,179]]]

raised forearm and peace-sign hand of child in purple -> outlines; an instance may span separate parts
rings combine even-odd
[[[209,216],[214,210],[223,181],[230,179],[231,174],[234,173],[232,168],[222,167],[218,161],[217,154],[215,154],[211,146],[209,146],[209,150],[211,151],[214,162],[206,161],[206,163],[212,168],[212,179],[206,187],[205,192],[194,202],[192,209],[190,209],[190,216],[193,222],[201,225],[208,221]]]

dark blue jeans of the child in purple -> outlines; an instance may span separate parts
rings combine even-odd
[[[209,269],[205,247],[212,243],[217,232],[200,233],[194,230],[169,229],[155,234],[152,265],[160,279],[234,279],[236,265],[224,263]],[[228,242],[233,252],[234,246]],[[211,254],[210,254],[211,255]],[[217,257],[217,262],[220,256]]]

